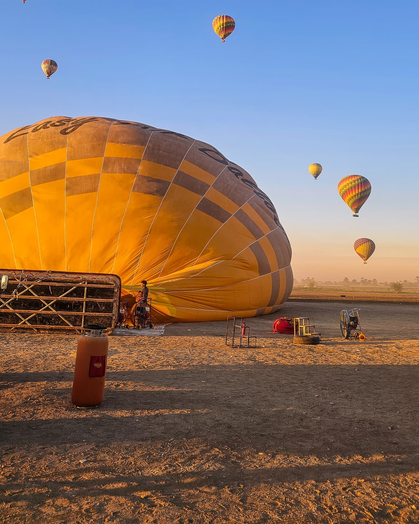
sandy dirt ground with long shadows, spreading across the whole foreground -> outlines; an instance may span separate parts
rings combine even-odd
[[[250,349],[224,322],[111,336],[94,410],[71,405],[76,336],[0,334],[0,522],[419,522],[417,304],[362,304],[363,343],[344,305],[249,319]]]

